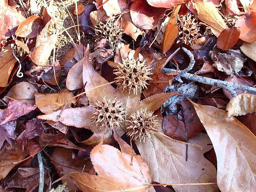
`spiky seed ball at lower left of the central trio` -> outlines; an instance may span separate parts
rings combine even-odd
[[[96,100],[93,111],[93,122],[98,128],[120,128],[120,122],[124,121],[125,108],[123,103],[105,96],[101,101]]]

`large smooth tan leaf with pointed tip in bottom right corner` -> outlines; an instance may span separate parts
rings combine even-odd
[[[226,112],[192,103],[209,135],[217,156],[217,183],[221,192],[256,189],[256,137],[236,118]]]

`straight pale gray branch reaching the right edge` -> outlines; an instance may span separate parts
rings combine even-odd
[[[163,73],[175,73],[177,72],[174,69],[167,69],[163,68]],[[223,89],[226,89],[230,91],[232,95],[237,95],[236,90],[243,90],[243,91],[248,91],[249,93],[254,93],[256,94],[256,88],[255,87],[250,87],[242,84],[237,84],[237,83],[230,83],[227,81],[221,81],[217,79],[211,79],[208,77],[202,77],[202,76],[197,76],[193,75],[191,73],[182,73],[183,71],[178,71],[180,74],[180,77],[183,77],[185,79],[188,79],[190,81],[197,81],[199,83],[204,83],[204,84],[209,84],[209,85],[214,85],[217,87],[221,87]]]

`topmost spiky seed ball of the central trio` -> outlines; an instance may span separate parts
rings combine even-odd
[[[123,90],[133,91],[134,94],[138,94],[138,90],[141,92],[143,88],[147,88],[147,81],[152,80],[151,68],[147,66],[145,61],[142,63],[139,59],[134,58],[122,58],[122,63],[118,63],[117,69],[114,70],[114,74],[117,76],[116,84]]]

